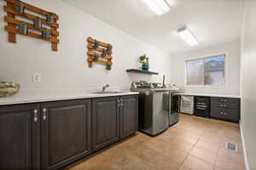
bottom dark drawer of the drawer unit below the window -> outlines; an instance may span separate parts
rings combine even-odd
[[[238,110],[234,109],[212,108],[211,117],[231,122],[239,122],[240,113]]]

